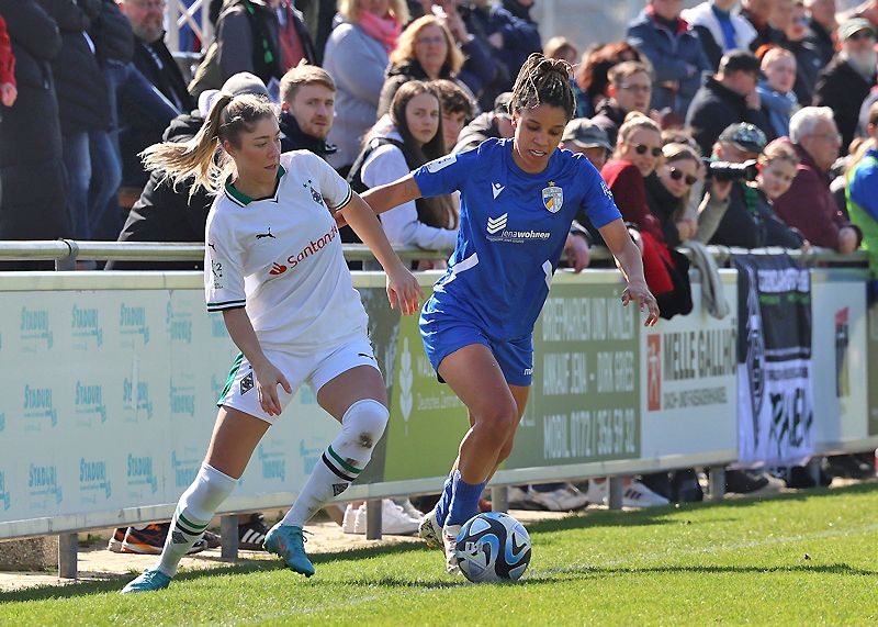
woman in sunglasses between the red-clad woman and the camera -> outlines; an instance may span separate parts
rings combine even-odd
[[[698,182],[701,164],[699,154],[686,144],[666,144],[662,148],[664,161],[646,177],[646,204],[661,221],[668,246],[695,237],[696,220],[685,216],[693,186]]]

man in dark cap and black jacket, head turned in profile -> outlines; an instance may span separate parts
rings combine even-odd
[[[698,90],[686,115],[686,125],[694,128],[702,155],[710,154],[720,133],[738,122],[750,122],[774,136],[756,92],[758,75],[758,59],[736,51],[722,57],[717,75],[708,77]]]

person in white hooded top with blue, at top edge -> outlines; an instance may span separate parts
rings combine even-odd
[[[713,71],[719,67],[722,55],[731,51],[750,49],[750,44],[756,38],[753,25],[732,12],[738,0],[708,0],[680,13],[698,33]]]

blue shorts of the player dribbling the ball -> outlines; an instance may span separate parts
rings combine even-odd
[[[420,337],[432,369],[439,376],[442,359],[471,344],[486,346],[510,385],[530,387],[533,378],[533,336],[518,339],[492,339],[471,320],[462,320],[444,311],[434,311],[425,303],[420,312]],[[442,378],[439,377],[439,381]]]

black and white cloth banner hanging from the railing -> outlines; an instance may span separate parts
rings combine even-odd
[[[811,280],[786,255],[735,255],[742,467],[803,463],[814,450]]]

